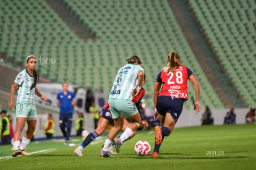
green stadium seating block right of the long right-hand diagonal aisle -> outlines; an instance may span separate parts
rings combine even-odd
[[[256,2],[188,2],[234,87],[247,105],[255,106]]]

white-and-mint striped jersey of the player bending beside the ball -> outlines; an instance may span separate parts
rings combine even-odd
[[[144,70],[139,65],[126,64],[118,70],[109,98],[132,100],[132,93],[138,83],[138,72]]]

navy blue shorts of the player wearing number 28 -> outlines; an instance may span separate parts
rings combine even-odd
[[[159,96],[156,103],[156,110],[159,114],[165,115],[166,113],[171,113],[174,121],[177,122],[179,116],[181,115],[184,99],[182,98],[172,98],[171,96]]]

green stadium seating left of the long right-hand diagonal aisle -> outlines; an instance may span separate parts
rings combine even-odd
[[[96,40],[80,40],[43,0],[4,0],[0,2],[0,21],[4,23],[0,27],[0,45],[4,46],[7,55],[15,62],[24,62],[28,54],[41,56],[41,60],[38,59],[41,76],[93,89],[103,88],[106,94],[126,58],[138,55],[143,60],[147,75],[145,99],[150,97],[147,105],[153,106],[151,97],[155,76],[166,64],[168,53],[176,51],[182,58],[182,64],[197,75],[202,106],[223,108],[168,1],[64,2],[83,24],[92,29]],[[223,51],[223,48],[220,46],[218,50]],[[55,59],[57,63],[49,63],[49,59]],[[189,95],[190,98],[194,96],[191,84]],[[185,109],[191,108],[191,103],[185,104]]]

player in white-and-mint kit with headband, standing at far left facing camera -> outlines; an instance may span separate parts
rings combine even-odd
[[[35,94],[38,95],[41,100],[47,103],[45,96],[36,88],[39,75],[35,70],[36,57],[28,56],[26,59],[26,69],[19,72],[14,80],[10,93],[9,109],[13,108],[13,97],[15,89],[18,88],[17,100],[15,105],[16,112],[16,129],[14,132],[14,152],[12,157],[18,155],[26,155],[25,148],[30,139],[33,136],[36,127],[36,107],[35,107]],[[28,129],[25,132],[22,142],[20,143],[20,135],[25,123],[27,121]]]

